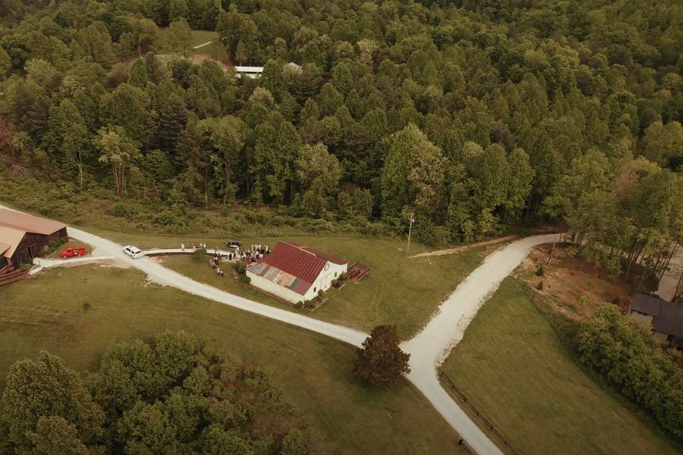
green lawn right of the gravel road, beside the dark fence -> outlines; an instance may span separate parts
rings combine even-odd
[[[578,367],[524,286],[506,279],[443,365],[467,398],[522,454],[679,453]]]

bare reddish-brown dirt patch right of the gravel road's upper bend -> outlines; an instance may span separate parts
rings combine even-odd
[[[630,284],[573,255],[571,249],[563,245],[556,245],[549,265],[551,250],[552,245],[540,245],[531,250],[522,264],[521,278],[536,292],[549,297],[556,311],[572,319],[584,319],[592,316],[605,302],[617,304],[622,312],[628,309],[633,292]],[[544,269],[542,277],[536,275],[540,266]],[[542,290],[538,289],[541,281]]]

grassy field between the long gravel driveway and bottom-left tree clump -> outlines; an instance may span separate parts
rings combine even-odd
[[[387,390],[359,385],[350,373],[351,346],[147,284],[132,269],[55,269],[1,289],[0,387],[11,363],[41,349],[76,370],[94,370],[110,343],[149,339],[166,328],[209,338],[271,370],[331,453],[460,453],[457,434],[407,381]]]

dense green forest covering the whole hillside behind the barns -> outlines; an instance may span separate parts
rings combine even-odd
[[[154,201],[159,225],[217,201],[398,233],[414,212],[438,245],[550,220],[655,276],[683,238],[678,1],[5,0],[0,16],[6,168]],[[183,57],[200,29],[224,61]]]

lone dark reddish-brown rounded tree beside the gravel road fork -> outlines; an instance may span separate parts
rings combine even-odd
[[[403,373],[410,373],[410,354],[398,347],[396,326],[376,326],[363,342],[354,361],[354,374],[369,385],[390,385],[398,381]]]

